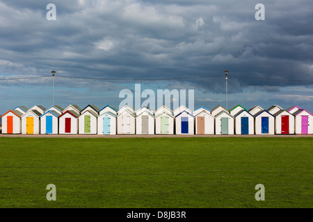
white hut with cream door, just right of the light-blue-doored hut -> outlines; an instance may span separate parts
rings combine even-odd
[[[118,110],[118,134],[136,133],[136,112],[129,105]]]

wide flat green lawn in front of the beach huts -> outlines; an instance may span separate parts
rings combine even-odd
[[[0,207],[313,207],[313,138],[0,138]],[[265,200],[255,200],[255,185]],[[56,201],[48,201],[48,184]]]

